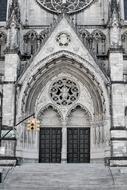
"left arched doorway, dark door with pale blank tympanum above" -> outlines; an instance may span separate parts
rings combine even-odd
[[[60,115],[52,105],[39,114],[41,121],[39,162],[60,163],[62,147],[62,128]]]

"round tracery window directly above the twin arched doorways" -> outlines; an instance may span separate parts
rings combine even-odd
[[[62,78],[52,84],[50,97],[57,105],[71,105],[79,97],[79,88],[72,80]]]

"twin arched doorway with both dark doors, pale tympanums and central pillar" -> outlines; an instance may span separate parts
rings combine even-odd
[[[42,120],[39,162],[90,162],[91,117],[85,109],[77,105],[61,120],[58,111],[50,105],[38,117]]]

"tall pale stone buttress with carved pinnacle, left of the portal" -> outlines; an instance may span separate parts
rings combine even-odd
[[[15,125],[17,67],[19,65],[20,9],[18,1],[10,5],[7,22],[8,36],[5,50],[5,73],[3,85],[3,125]]]

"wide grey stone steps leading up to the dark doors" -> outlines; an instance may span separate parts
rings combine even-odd
[[[103,164],[23,164],[11,170],[2,190],[127,190],[127,170]]]

